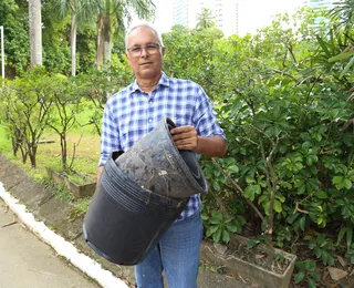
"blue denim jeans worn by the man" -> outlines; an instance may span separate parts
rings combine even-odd
[[[163,288],[165,270],[169,288],[196,288],[202,238],[200,212],[175,222],[145,260],[135,266],[138,288]]]

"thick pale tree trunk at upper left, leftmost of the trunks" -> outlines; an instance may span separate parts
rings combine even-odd
[[[29,0],[31,68],[42,65],[41,0]]]

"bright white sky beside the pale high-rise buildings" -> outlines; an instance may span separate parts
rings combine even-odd
[[[173,27],[174,0],[153,0],[156,4],[154,24],[160,33]],[[301,0],[240,0],[239,33],[252,33],[262,25],[271,23],[271,17],[285,11],[294,11]],[[242,9],[242,10],[241,10]]]

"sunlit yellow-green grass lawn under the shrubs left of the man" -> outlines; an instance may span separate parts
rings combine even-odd
[[[88,105],[88,104],[87,104]],[[81,123],[85,123],[90,119],[91,110],[85,109],[84,113],[79,115]],[[51,144],[40,144],[37,153],[37,167],[32,168],[30,160],[22,163],[21,152],[13,156],[11,140],[4,125],[0,124],[0,151],[12,163],[20,166],[30,177],[39,183],[48,183],[49,176],[46,167],[55,171],[62,171],[61,167],[61,146],[59,135],[52,130],[46,130],[41,140],[53,140]],[[75,160],[73,169],[79,175],[70,176],[71,179],[79,184],[92,183],[96,178],[97,163],[100,158],[100,136],[94,134],[92,126],[76,127],[67,134],[67,164],[72,161],[75,146]],[[56,196],[74,204],[79,212],[83,212],[88,207],[91,198],[75,199],[70,191],[65,187],[54,187]]]

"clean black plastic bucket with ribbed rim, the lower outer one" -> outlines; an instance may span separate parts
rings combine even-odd
[[[136,265],[180,215],[189,197],[171,199],[142,188],[117,167],[117,156],[113,153],[104,166],[83,222],[83,234],[107,260]]]

